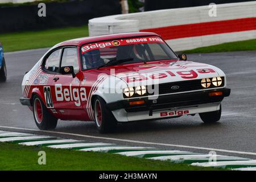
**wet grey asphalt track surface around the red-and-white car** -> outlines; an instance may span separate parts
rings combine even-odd
[[[0,83],[0,130],[170,150],[215,150],[217,154],[256,159],[255,51],[188,55],[188,60],[215,65],[226,73],[232,93],[222,102],[220,122],[206,125],[197,114],[119,124],[117,132],[112,134],[99,134],[94,122],[80,121],[59,121],[50,133],[38,130],[32,112],[19,103],[19,98],[24,73],[46,51],[35,49],[5,54],[8,78],[7,82]]]

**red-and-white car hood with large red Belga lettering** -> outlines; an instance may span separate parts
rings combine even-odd
[[[193,61],[154,61],[146,64],[115,65],[98,69],[97,72],[118,77],[129,86],[150,85],[150,81],[165,83],[225,76],[221,69],[213,65]]]

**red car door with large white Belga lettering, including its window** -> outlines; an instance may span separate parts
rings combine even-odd
[[[77,47],[64,47],[61,61],[61,67],[74,68],[75,74],[79,73],[79,58]],[[82,101],[86,98],[85,88],[80,88],[80,78],[72,74],[56,74],[53,78],[55,88],[54,107],[61,114],[61,119],[82,120],[84,110]]]

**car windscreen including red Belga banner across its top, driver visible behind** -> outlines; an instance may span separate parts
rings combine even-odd
[[[158,36],[85,44],[81,47],[81,53],[83,69],[98,68],[110,61],[118,65],[178,59]]]

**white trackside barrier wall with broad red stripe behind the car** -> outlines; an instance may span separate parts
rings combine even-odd
[[[185,7],[105,16],[89,20],[90,36],[156,32],[183,51],[225,42],[256,39],[256,1]]]

